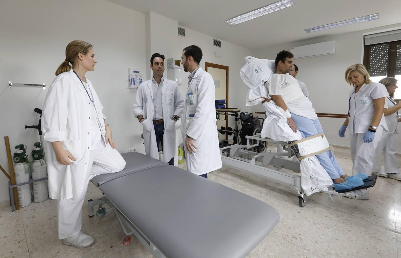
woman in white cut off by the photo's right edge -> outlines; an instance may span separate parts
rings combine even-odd
[[[382,83],[389,94],[394,93],[397,89],[397,79],[392,77],[386,77],[379,81]],[[377,145],[375,157],[373,158],[373,171],[372,174],[380,177],[389,177],[398,181],[401,181],[401,175],[398,170],[397,163],[397,141],[395,140],[395,134],[397,132],[397,124],[401,122],[401,118],[398,117],[398,110],[401,109],[401,101],[395,103],[392,97],[386,97],[384,104],[384,116],[387,123],[388,130],[383,131],[383,137]],[[383,154],[384,157],[384,172],[381,171],[380,156]]]

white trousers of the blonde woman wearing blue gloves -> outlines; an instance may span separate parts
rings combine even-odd
[[[373,156],[377,144],[381,141],[383,134],[383,127],[379,126],[375,132],[375,138],[372,142],[363,142],[365,133],[350,134],[351,145],[351,158],[352,158],[352,175],[358,173],[365,173],[369,176],[372,175]]]

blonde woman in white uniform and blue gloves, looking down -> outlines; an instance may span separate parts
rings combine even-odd
[[[348,118],[338,135],[344,137],[349,124],[352,174],[372,175],[373,156],[383,130],[387,130],[384,119],[385,97],[389,95],[381,83],[372,82],[362,64],[351,65],[345,72],[345,80],[354,88],[348,100]],[[355,199],[369,199],[369,190],[358,190],[351,194]]]

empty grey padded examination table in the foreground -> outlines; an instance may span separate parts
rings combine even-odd
[[[122,156],[123,171],[91,180],[104,196],[88,201],[89,217],[107,203],[156,258],[245,257],[279,221],[273,207],[239,191],[144,154]]]

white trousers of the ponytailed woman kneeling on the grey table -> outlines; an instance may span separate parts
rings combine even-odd
[[[105,147],[91,150],[89,156],[87,180],[83,186],[82,194],[77,199],[57,200],[57,217],[59,220],[59,239],[74,236],[81,230],[82,205],[88,188],[89,179],[93,175],[115,173],[122,171],[126,165],[124,158],[119,152],[111,148],[110,144]],[[82,171],[84,173],[84,171]]]

